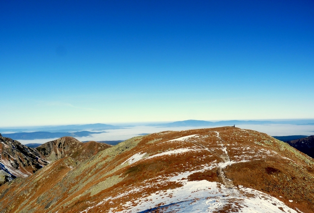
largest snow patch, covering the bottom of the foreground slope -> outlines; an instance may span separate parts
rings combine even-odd
[[[217,182],[181,180],[182,175],[171,178],[182,183],[182,187],[157,191],[149,196],[126,202],[124,212],[146,212],[156,207],[162,212],[213,212],[224,207],[235,208],[243,213],[297,213],[283,202],[263,192],[242,186],[226,188]],[[134,204],[136,204],[134,206]],[[114,209],[111,209],[114,212]]]

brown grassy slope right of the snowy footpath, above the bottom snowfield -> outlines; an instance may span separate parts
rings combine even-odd
[[[234,149],[239,144],[250,147],[254,153],[265,149],[266,156],[227,167],[225,174],[235,185],[257,189],[279,198],[292,208],[314,212],[313,159],[266,134],[252,131],[246,133],[247,140],[241,140],[237,136],[237,132],[221,134],[225,141],[233,141],[227,148],[230,160],[241,156],[239,152],[242,150]],[[252,146],[251,141],[256,146]],[[289,202],[290,199],[293,200],[292,203]]]

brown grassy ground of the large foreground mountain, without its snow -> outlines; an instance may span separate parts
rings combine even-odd
[[[219,140],[216,132],[219,132]],[[167,142],[193,134],[197,137]],[[226,148],[228,156],[222,147]],[[148,157],[185,148],[191,151],[144,158],[131,165],[124,163],[135,154]],[[0,212],[78,212],[92,206],[89,212],[127,211],[124,206],[127,202],[135,206],[134,201],[138,198],[145,199],[157,191],[181,186],[177,182],[161,180],[198,170],[204,164],[224,162],[227,157],[230,161],[247,162],[232,164],[224,171],[215,167],[196,172],[188,180],[255,188],[271,194],[290,208],[314,212],[313,160],[267,134],[231,127],[135,137],[100,151],[77,166],[72,158],[59,159],[25,181],[3,185],[0,188]],[[230,183],[226,183],[222,172],[231,179]],[[291,198],[293,203],[289,202]]]

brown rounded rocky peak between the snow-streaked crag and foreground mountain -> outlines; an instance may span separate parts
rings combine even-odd
[[[111,145],[89,141],[80,142],[72,137],[62,137],[57,140],[49,141],[36,148],[49,161],[56,161],[63,157],[72,157],[78,161],[97,154]]]

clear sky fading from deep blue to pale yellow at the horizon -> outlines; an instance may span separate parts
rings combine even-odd
[[[0,126],[314,118],[314,1],[1,1]]]

